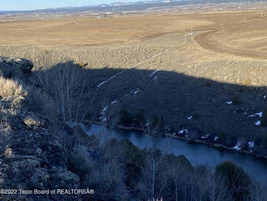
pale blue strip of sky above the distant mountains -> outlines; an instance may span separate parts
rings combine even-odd
[[[141,0],[0,0],[0,11],[23,11],[57,7],[80,7],[113,2],[138,2]]]

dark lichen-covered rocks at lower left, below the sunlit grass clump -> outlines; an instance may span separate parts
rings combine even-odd
[[[20,98],[20,97],[18,97]],[[6,99],[4,102],[7,106]],[[9,98],[10,100],[16,99]],[[2,100],[0,100],[2,104]],[[11,102],[10,105],[13,105]],[[21,106],[22,107],[22,106]],[[77,189],[79,176],[68,170],[67,150],[57,136],[48,129],[48,120],[39,114],[10,113],[0,132],[6,133],[6,147],[0,157],[2,186],[6,189]],[[10,195],[14,199],[19,194]],[[36,195],[24,195],[37,200]],[[40,194],[38,195],[40,196]],[[45,194],[46,200],[77,200],[76,195]]]

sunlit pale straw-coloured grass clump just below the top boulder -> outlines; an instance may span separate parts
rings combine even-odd
[[[26,91],[23,90],[22,84],[12,79],[0,77],[0,96],[8,95],[23,95]]]

